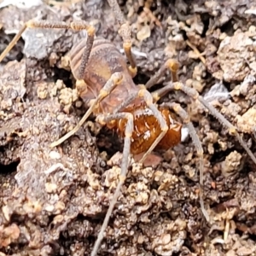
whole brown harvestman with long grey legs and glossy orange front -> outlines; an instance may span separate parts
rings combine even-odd
[[[189,121],[188,113],[179,104],[169,102],[158,106],[156,102],[158,102],[161,96],[165,96],[172,90],[182,90],[194,100],[201,102],[220,123],[229,129],[231,134],[236,136],[241,146],[256,164],[253,153],[241,139],[236,131],[236,127],[231,125],[221,113],[218,113],[218,110],[204,100],[196,90],[178,82],[177,61],[167,60],[159,72],[155,73],[148,80],[147,84],[138,86],[134,84],[132,78],[137,74],[137,66],[131,53],[131,28],[119,9],[117,1],[108,0],[108,3],[120,26],[119,33],[124,41],[123,47],[125,49],[125,55],[130,62],[129,67],[127,67],[126,60],[119,52],[119,49],[106,39],[95,39],[94,27],[90,26],[84,20],[73,21],[70,24],[66,22],[30,20],[26,22],[13,41],[3,51],[2,55],[0,55],[1,62],[5,55],[9,53],[9,50],[17,43],[26,28],[64,28],[73,29],[74,31],[86,30],[87,32],[87,39],[82,39],[79,44],[74,45],[68,54],[68,58],[71,71],[77,81],[76,87],[79,91],[79,96],[90,108],[73,131],[68,132],[64,137],[52,143],[51,147],[55,147],[67,140],[68,137],[73,136],[91,113],[96,114],[97,122],[107,125],[109,129],[117,131],[120,137],[124,137],[125,143],[119,183],[91,253],[92,256],[96,255],[100,247],[104,231],[108,226],[109,218],[113,212],[113,207],[118,201],[120,189],[125,182],[129,165],[129,155],[144,153],[142,160],[140,160],[143,162],[154,148],[168,149],[180,143],[182,125],[173,119],[170,109],[183,119],[183,126],[189,128],[190,137],[200,157],[200,187],[202,188],[204,168],[203,148],[195,128]],[[159,81],[166,72],[166,69],[170,69],[172,81],[163,88],[149,93],[148,89]],[[200,203],[201,210],[207,221],[209,221],[209,216],[202,201],[202,189],[200,192]]]

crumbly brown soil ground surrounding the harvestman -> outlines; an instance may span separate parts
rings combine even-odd
[[[0,9],[0,51],[31,18],[89,20],[121,49],[108,4],[76,2]],[[131,23],[135,81],[145,83],[165,59],[177,58],[183,83],[237,125],[254,152],[256,4],[176,2],[119,1]],[[90,128],[49,148],[84,113],[61,68],[61,56],[80,37],[27,31],[0,64],[0,255],[89,255],[108,209],[119,174],[108,160],[122,150],[112,132],[98,132],[92,118]],[[182,93],[162,101],[180,102],[201,139],[211,223],[201,214],[198,158],[188,138],[156,152],[162,158],[156,166],[131,167],[99,255],[256,255],[252,161],[198,102]]]

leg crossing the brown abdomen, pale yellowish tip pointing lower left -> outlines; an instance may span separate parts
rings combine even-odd
[[[111,91],[121,82],[123,79],[122,73],[113,73],[110,79],[108,79],[108,82],[104,85],[102,90],[100,90],[99,95],[96,97],[96,100],[92,102],[90,105],[90,108],[84,113],[84,116],[82,119],[80,119],[79,124],[76,125],[72,131],[69,131],[66,135],[61,137],[59,140],[55,141],[54,143],[50,144],[51,148],[54,148],[64,141],[67,140],[67,138],[73,136],[77,131],[79,131],[80,127],[84,124],[85,120],[88,119],[90,116],[90,113],[93,112],[93,110],[96,108],[96,105],[101,102],[106,96],[111,93]]]

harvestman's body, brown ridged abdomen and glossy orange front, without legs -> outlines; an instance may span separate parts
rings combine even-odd
[[[70,67],[74,78],[78,77],[81,56],[86,40],[81,40],[79,44],[70,52]],[[113,113],[131,93],[137,92],[139,87],[134,84],[131,73],[123,55],[110,41],[106,39],[96,39],[90,52],[90,59],[84,73],[84,87],[78,88],[79,96],[85,103],[96,98],[99,91],[108,81],[113,73],[121,72],[123,79],[119,84],[96,108],[94,113]],[[134,131],[131,137],[131,154],[140,154],[148,150],[155,138],[160,135],[160,125],[151,110],[146,106],[143,98],[137,97],[122,112],[132,113],[134,116]],[[182,125],[172,118],[172,114],[166,108],[160,109],[166,119],[169,130],[166,136],[158,144],[158,148],[172,148],[181,141]],[[125,119],[113,120],[107,126],[124,137]]]

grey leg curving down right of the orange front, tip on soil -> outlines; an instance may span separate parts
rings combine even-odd
[[[207,219],[207,222],[209,222],[210,218],[207,213],[207,210],[204,206],[204,201],[203,201],[203,171],[204,171],[204,159],[203,159],[203,148],[201,146],[200,139],[195,131],[194,125],[190,122],[189,119],[189,114],[177,103],[172,103],[172,102],[166,102],[161,104],[161,107],[164,108],[171,108],[173,109],[182,119],[183,119],[183,124],[189,128],[189,134],[190,137],[193,140],[193,143],[195,145],[196,152],[199,156],[199,171],[200,171],[200,204],[201,204],[201,212]]]

